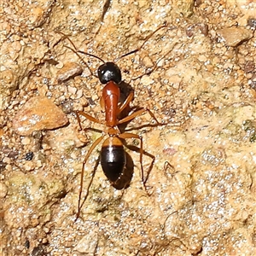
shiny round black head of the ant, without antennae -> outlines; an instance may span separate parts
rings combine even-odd
[[[106,62],[98,68],[98,77],[102,84],[113,81],[119,84],[122,81],[122,75],[119,67],[113,62]]]

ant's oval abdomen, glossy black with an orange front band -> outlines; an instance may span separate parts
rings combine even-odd
[[[116,182],[126,165],[125,149],[118,137],[109,137],[102,145],[101,165],[108,180]]]

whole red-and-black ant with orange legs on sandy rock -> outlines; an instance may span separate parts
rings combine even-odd
[[[146,188],[146,182],[147,178],[144,179],[144,171],[143,171],[143,137],[130,133],[130,132],[122,132],[119,130],[119,125],[125,124],[132,119],[135,119],[137,116],[142,115],[143,113],[149,113],[150,116],[154,119],[155,125],[165,125],[161,124],[154,116],[154,113],[150,111],[148,108],[140,108],[136,110],[135,112],[126,115],[124,118],[120,118],[120,114],[125,110],[125,108],[129,107],[129,104],[133,100],[134,97],[134,92],[131,90],[129,95],[126,97],[125,101],[121,101],[121,92],[120,92],[120,84],[122,82],[122,76],[121,76],[121,71],[119,67],[115,64],[115,62],[119,61],[121,58],[131,55],[136,53],[139,49],[143,47],[143,45],[148,41],[148,38],[151,38],[155,32],[159,31],[161,28],[166,27],[166,24],[164,26],[158,27],[154,32],[152,32],[143,42],[143,44],[137,48],[132,50],[129,53],[126,53],[125,55],[121,55],[117,60],[114,62],[105,62],[103,61],[100,57],[96,55],[92,55],[89,53],[86,53],[81,50],[77,50],[73,42],[67,38],[66,35],[64,35],[69,42],[73,45],[73,48],[76,49],[76,51],[70,47],[67,46],[68,49],[72,49],[73,52],[76,55],[79,55],[79,53],[82,53],[84,55],[90,55],[92,57],[95,57],[96,59],[100,60],[103,62],[103,64],[98,67],[97,69],[97,74],[98,74],[98,79],[102,84],[104,84],[104,87],[102,89],[102,97],[100,99],[100,104],[102,110],[105,112],[105,120],[99,120],[94,118],[88,113],[84,113],[83,111],[76,111],[76,117],[79,122],[79,129],[83,130],[82,125],[81,125],[81,119],[80,116],[84,116],[85,119],[89,119],[90,121],[104,125],[105,128],[103,130],[96,130],[93,128],[85,128],[84,131],[87,130],[94,130],[98,132],[102,132],[102,136],[98,137],[94,143],[90,146],[89,151],[84,157],[83,160],[83,165],[82,165],[82,172],[81,172],[81,179],[80,179],[80,189],[79,189],[79,204],[78,204],[78,212],[76,214],[76,219],[79,218],[80,210],[81,207],[84,204],[84,201],[86,200],[88,194],[89,194],[89,189],[90,189],[90,184],[92,183],[92,179],[90,181],[90,184],[87,188],[87,194],[84,197],[83,203],[81,203],[81,197],[82,197],[82,192],[83,192],[83,179],[84,179],[84,166],[86,165],[87,160],[90,157],[90,154],[92,151],[96,148],[96,146],[102,142],[104,137],[107,137],[103,143],[102,143],[102,149],[100,152],[100,163],[102,166],[102,170],[105,174],[105,176],[108,178],[109,182],[112,184],[115,184],[119,181],[120,177],[125,171],[125,166],[126,166],[126,154],[125,154],[125,148],[124,148],[124,143],[122,140],[125,139],[138,139],[140,141],[140,166],[141,166],[141,179],[143,182],[143,187],[147,191]],[[80,55],[79,55],[79,58]],[[155,67],[154,67],[155,68]],[[151,70],[150,73],[154,71]],[[149,74],[149,73],[145,73]],[[143,75],[145,75],[143,74]],[[141,76],[140,76],[141,77]],[[140,78],[139,77],[139,78]],[[150,154],[151,155],[151,154]],[[154,156],[152,156],[152,163],[151,166],[154,164]],[[92,177],[93,178],[93,177]]]

